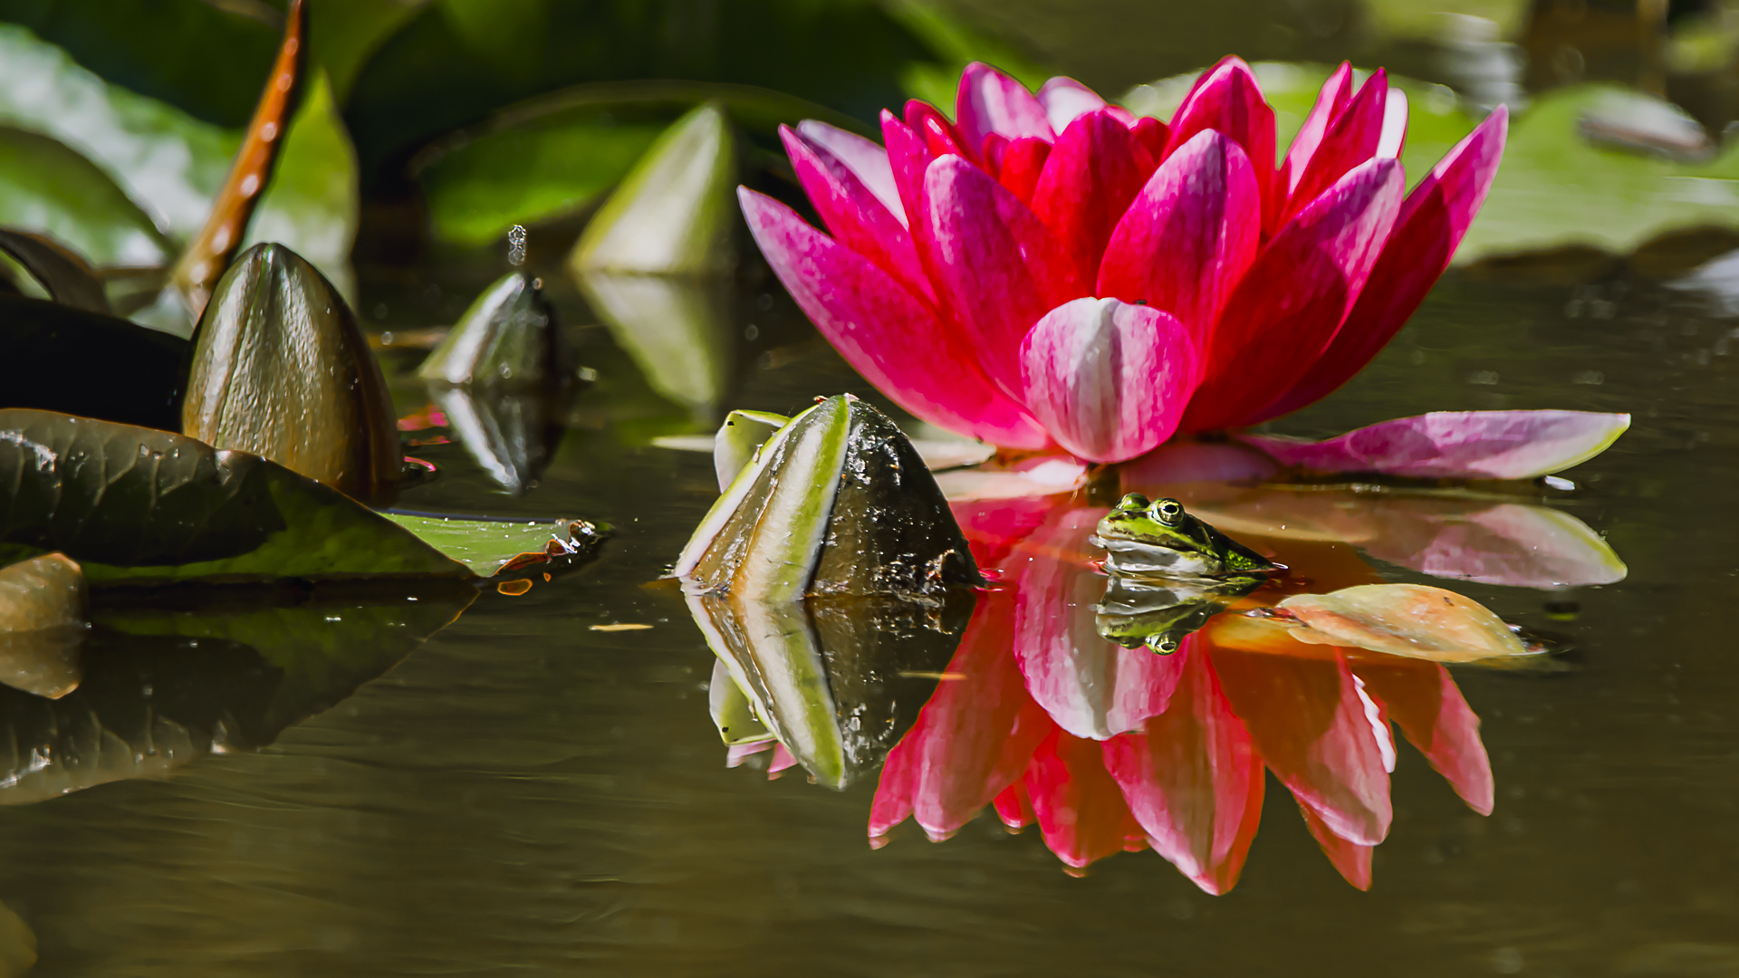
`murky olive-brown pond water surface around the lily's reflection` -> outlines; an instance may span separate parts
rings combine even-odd
[[[402,294],[372,289],[381,303]],[[729,404],[875,400],[765,289],[750,280],[723,315],[730,334],[756,336],[732,343]],[[1362,893],[1269,774],[1242,879],[1210,896],[1149,851],[1064,872],[1040,827],[1010,834],[988,807],[946,842],[908,820],[871,847],[873,773],[835,792],[802,767],[769,778],[767,754],[727,767],[708,713],[715,658],[682,597],[652,585],[716,498],[711,458],[647,442],[656,402],[623,393],[642,383],[633,367],[570,289],[553,291],[598,379],[537,486],[506,496],[457,442],[430,444],[412,451],[442,475],[403,505],[605,520],[614,538],[596,564],[522,597],[485,593],[396,665],[409,642],[334,639],[351,679],[275,701],[290,710],[277,720],[245,668],[212,679],[176,665],[216,654],[209,642],[132,649],[157,656],[129,668],[155,668],[158,687],[111,679],[80,708],[117,736],[157,710],[169,719],[160,755],[174,754],[163,731],[193,729],[198,713],[230,748],[165,762],[163,780],[0,809],[0,900],[37,931],[40,973],[1739,968],[1739,670],[1725,626],[1739,419],[1718,292],[1629,273],[1595,285],[1452,273],[1356,381],[1275,425],[1322,435],[1421,404],[1631,411],[1631,432],[1549,501],[1605,536],[1628,576],[1544,592],[1372,560],[1383,578],[1435,579],[1574,649],[1551,670],[1450,670],[1480,719],[1490,816],[1398,738],[1393,827]],[[400,395],[407,414],[417,407],[414,390]],[[1569,621],[1567,602],[1579,607]],[[1236,682],[1224,661],[1219,672]],[[322,696],[341,701],[271,741]],[[68,738],[83,722],[73,713],[54,720]],[[270,747],[238,750],[250,731]]]

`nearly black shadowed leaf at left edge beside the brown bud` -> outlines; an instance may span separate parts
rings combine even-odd
[[[0,392],[38,407],[179,428],[193,345],[123,318],[0,294]]]

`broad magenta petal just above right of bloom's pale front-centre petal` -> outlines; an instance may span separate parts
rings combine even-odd
[[[1226,296],[1256,259],[1261,211],[1250,158],[1226,136],[1198,132],[1111,231],[1099,294],[1172,313],[1205,353]]]

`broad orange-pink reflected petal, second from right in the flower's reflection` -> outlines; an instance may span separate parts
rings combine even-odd
[[[1393,818],[1388,766],[1377,740],[1386,740],[1388,731],[1376,731],[1346,656],[1329,653],[1306,658],[1216,647],[1212,658],[1221,687],[1268,769],[1330,832],[1376,846]]]

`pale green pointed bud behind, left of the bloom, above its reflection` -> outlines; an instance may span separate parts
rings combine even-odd
[[[576,273],[716,273],[730,268],[736,144],[716,104],[683,115],[598,209],[569,258]]]

